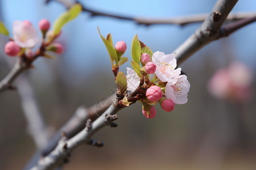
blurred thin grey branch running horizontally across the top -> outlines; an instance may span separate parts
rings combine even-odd
[[[72,2],[67,0],[47,0],[46,3],[49,3],[51,1],[57,1],[63,4],[67,8],[71,7],[75,3],[80,3],[79,1]],[[122,20],[132,20],[137,24],[144,24],[144,25],[175,24],[175,25],[183,26],[191,23],[201,23],[209,15],[209,14],[196,14],[196,15],[188,15],[188,16],[177,16],[173,18],[146,18],[146,17],[130,17],[130,16],[109,14],[107,12],[92,10],[88,7],[85,7],[84,5],[82,5],[82,10],[84,12],[89,12],[92,16],[106,16],[106,17],[122,19]],[[251,16],[254,16],[254,15],[256,15],[256,12],[237,12],[237,13],[230,14],[226,20],[232,20],[232,21],[240,20],[244,18],[250,18]]]

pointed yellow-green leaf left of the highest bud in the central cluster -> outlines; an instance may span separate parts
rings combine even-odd
[[[98,33],[100,33],[100,29],[98,29]],[[115,52],[115,49],[112,43],[111,34],[109,33],[109,35],[107,36],[107,40],[101,35],[101,33],[100,33],[100,36],[109,52],[109,57],[111,59],[112,66],[114,66],[113,61],[115,61],[115,65],[117,65],[118,64],[117,53]]]

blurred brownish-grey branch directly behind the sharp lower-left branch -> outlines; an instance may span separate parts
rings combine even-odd
[[[41,156],[48,155],[53,149],[57,146],[57,143],[61,139],[61,135],[65,132],[65,137],[67,139],[72,138],[74,135],[79,133],[82,129],[85,128],[86,120],[90,119],[92,121],[96,120],[102,113],[110,107],[110,105],[115,100],[115,94],[112,96],[99,100],[95,105],[90,108],[81,106],[77,108],[73,116],[68,120],[68,122],[63,125],[59,131],[49,140],[48,145],[42,150],[37,151],[30,161],[27,163],[24,169],[30,169],[33,165],[38,162]]]

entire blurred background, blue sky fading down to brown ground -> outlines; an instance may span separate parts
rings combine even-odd
[[[80,1],[85,7],[122,16],[175,17],[208,13],[216,1]],[[0,17],[12,36],[14,20],[30,20],[38,28],[42,18],[51,23],[66,8],[57,2],[1,0]],[[238,1],[232,12],[256,11],[253,0]],[[113,43],[125,41],[124,56],[130,66],[131,41],[136,33],[153,52],[171,53],[200,23],[185,25],[138,25],[133,21],[90,16],[82,12],[63,27],[57,39],[65,52],[57,59],[39,58],[26,76],[39,103],[47,128],[54,134],[80,105],[90,107],[115,90],[108,52],[98,35],[112,33]],[[191,89],[188,103],[164,112],[159,105],[152,120],[141,112],[141,103],[119,112],[118,128],[106,127],[94,139],[105,146],[82,146],[72,153],[63,169],[256,169],[256,23],[228,38],[214,41],[180,67]],[[39,31],[39,29],[38,29]],[[15,58],[3,53],[0,36],[0,79]],[[253,73],[251,98],[245,102],[217,99],[207,85],[213,74],[232,61],[244,63]],[[220,82],[221,83],[221,82]],[[19,94],[0,95],[0,169],[22,169],[36,151],[27,131]]]

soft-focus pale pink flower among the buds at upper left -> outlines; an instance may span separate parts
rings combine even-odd
[[[28,20],[14,21],[13,34],[14,42],[22,48],[32,48],[41,41],[38,32]]]

